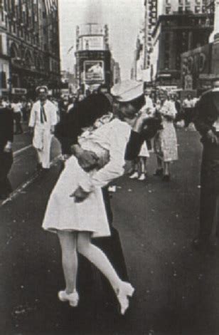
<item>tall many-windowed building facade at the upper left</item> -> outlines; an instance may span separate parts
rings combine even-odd
[[[0,0],[1,95],[60,83],[58,0]]]

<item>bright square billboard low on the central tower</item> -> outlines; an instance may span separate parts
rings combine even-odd
[[[85,82],[104,82],[105,71],[103,61],[85,61],[84,62]]]

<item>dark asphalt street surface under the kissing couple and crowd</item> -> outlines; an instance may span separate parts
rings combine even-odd
[[[16,135],[15,191],[0,205],[1,334],[219,334],[219,251],[191,248],[198,232],[201,143],[196,131],[177,133],[171,182],[154,177],[151,154],[148,180],[122,177],[112,193],[114,226],[136,289],[125,316],[117,315],[116,304],[114,313],[107,308],[98,287],[81,290],[78,309],[58,301],[64,287],[60,247],[41,223],[60,173],[59,144],[53,140],[50,172],[37,174],[31,135]]]

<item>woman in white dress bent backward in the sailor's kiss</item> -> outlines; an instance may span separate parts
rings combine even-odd
[[[124,104],[116,118],[83,133],[79,139],[81,148],[94,152],[100,161],[106,162],[108,158],[108,163],[100,170],[85,172],[75,156],[70,157],[50,195],[43,228],[58,234],[66,284],[65,290],[58,292],[58,298],[69,301],[70,306],[77,306],[79,301],[78,252],[109,279],[121,314],[127,310],[129,297],[134,293],[132,285],[118,277],[102,250],[92,244],[92,237],[110,235],[101,187],[124,173],[124,153],[136,113],[132,102]]]

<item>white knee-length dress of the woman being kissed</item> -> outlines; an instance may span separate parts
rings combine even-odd
[[[67,160],[48,200],[43,229],[52,232],[87,231],[92,232],[92,237],[110,236],[101,187],[123,175],[124,152],[130,130],[127,123],[114,119],[80,138],[84,150],[93,151],[98,158],[107,153],[109,162],[100,170],[85,172],[74,156]],[[70,197],[79,186],[90,192],[80,203]]]

